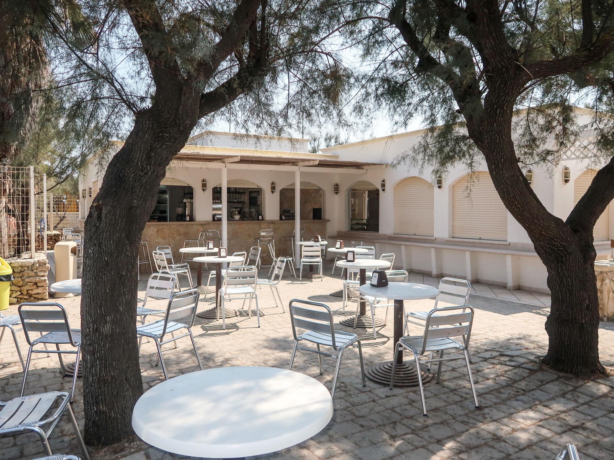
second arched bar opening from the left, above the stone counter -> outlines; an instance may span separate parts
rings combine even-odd
[[[222,220],[222,184],[212,190],[213,220]],[[228,220],[262,220],[263,191],[257,183],[245,179],[227,182]]]

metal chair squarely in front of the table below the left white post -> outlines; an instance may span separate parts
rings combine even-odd
[[[224,276],[224,283],[217,293],[218,305],[217,319],[220,319],[222,310],[222,329],[226,329],[226,315],[224,305],[226,301],[243,301],[241,308],[245,306],[245,301],[249,300],[247,315],[252,317],[252,301],[256,301],[256,316],[258,318],[258,328],[260,328],[260,310],[258,309],[258,295],[256,288],[258,285],[258,269],[252,265],[228,267]]]

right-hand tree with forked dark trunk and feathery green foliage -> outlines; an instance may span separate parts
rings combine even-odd
[[[614,198],[612,1],[391,0],[349,8],[356,22],[347,37],[372,59],[369,100],[386,101],[401,125],[419,114],[430,126],[397,161],[430,163],[437,174],[483,155],[503,204],[548,270],[543,363],[603,374],[593,227]],[[574,103],[596,109],[590,126],[578,125]],[[522,167],[556,161],[587,129],[602,167],[562,220],[540,202]]]

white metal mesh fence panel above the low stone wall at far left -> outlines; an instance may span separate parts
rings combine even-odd
[[[34,249],[36,230],[45,222],[45,185],[45,175],[34,174],[33,167],[0,167],[0,256],[3,258],[22,256]]]

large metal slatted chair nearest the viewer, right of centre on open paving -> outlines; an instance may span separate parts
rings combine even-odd
[[[469,311],[467,311],[469,310]],[[441,314],[444,313],[444,314]],[[397,368],[397,355],[401,347],[411,351],[416,361],[416,370],[420,375],[420,364],[438,362],[437,383],[441,381],[441,364],[443,361],[451,361],[453,359],[465,359],[467,364],[467,373],[469,375],[469,383],[473,392],[473,401],[475,407],[480,407],[478,404],[478,396],[475,393],[473,386],[473,377],[469,366],[469,355],[467,349],[469,347],[469,339],[471,338],[471,327],[473,324],[473,307],[470,305],[461,305],[458,307],[444,307],[441,309],[432,309],[426,317],[424,326],[424,335],[414,335],[411,337],[401,337],[394,349],[394,361],[392,361],[392,377],[390,388],[394,384],[394,374]],[[457,342],[453,337],[462,337],[462,342]],[[443,357],[444,351],[461,352],[462,356]],[[439,352],[439,358],[420,359],[429,353]],[[422,397],[422,412],[426,416],[426,402],[424,401],[424,388],[422,388],[422,378],[418,378],[420,386],[420,395]]]

